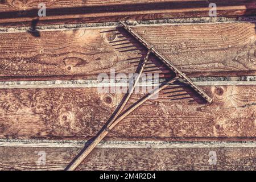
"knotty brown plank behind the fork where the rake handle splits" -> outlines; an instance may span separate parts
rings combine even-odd
[[[106,139],[251,140],[256,86],[203,86],[212,104],[185,86],[170,86],[119,123]],[[97,88],[1,89],[0,138],[90,139],[123,94]],[[141,95],[131,97],[129,104]]]

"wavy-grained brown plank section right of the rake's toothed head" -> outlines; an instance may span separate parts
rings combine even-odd
[[[199,72],[204,76],[207,72],[256,70],[254,24],[192,24],[134,30],[186,73]]]

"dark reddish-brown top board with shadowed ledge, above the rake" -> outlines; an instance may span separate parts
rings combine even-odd
[[[46,4],[47,16],[38,17],[38,5]],[[256,13],[254,0],[211,1],[218,16],[241,16]],[[209,3],[203,0],[127,0],[127,1],[1,1],[1,26],[38,24],[110,22],[126,19],[162,19],[209,16]]]

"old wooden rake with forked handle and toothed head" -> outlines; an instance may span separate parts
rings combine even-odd
[[[123,28],[127,30],[131,35],[134,36],[139,42],[141,42],[147,49],[147,55],[144,57],[144,59],[141,61],[141,64],[139,64],[139,71],[138,71],[138,76],[135,76],[132,85],[129,84],[129,89],[127,90],[126,95],[123,98],[123,102],[121,106],[117,109],[115,115],[113,118],[109,121],[108,125],[104,127],[103,130],[100,131],[100,133],[97,135],[97,137],[93,140],[92,143],[89,144],[88,147],[84,148],[80,152],[80,154],[69,164],[69,166],[66,168],[67,171],[73,171],[79,166],[79,164],[90,154],[90,152],[97,146],[98,143],[101,142],[104,137],[109,133],[110,130],[113,129],[115,125],[117,125],[120,121],[122,121],[123,118],[125,118],[127,115],[129,115],[132,111],[137,109],[139,106],[141,106],[144,102],[149,100],[151,97],[155,96],[155,94],[159,93],[161,90],[164,88],[167,88],[168,85],[174,83],[177,79],[181,78],[186,82],[188,85],[191,86],[197,93],[200,94],[201,97],[203,97],[207,102],[212,102],[212,98],[210,98],[203,90],[198,88],[193,82],[183,73],[181,72],[178,68],[175,67],[166,57],[161,55],[156,49],[151,46],[149,43],[146,42],[141,36],[139,36],[131,27],[129,27],[125,22],[120,21],[122,24]],[[158,88],[152,90],[145,96],[143,96],[141,99],[139,99],[137,102],[135,102],[133,105],[128,107],[125,111],[121,113],[125,105],[127,104],[127,101],[131,97],[131,94],[133,93],[135,87],[137,86],[137,83],[139,81],[139,78],[142,75],[142,72],[144,70],[144,67],[146,65],[146,62],[148,60],[148,57],[150,56],[150,53],[154,53],[155,56],[159,57],[160,60],[163,61],[164,64],[167,65],[168,68],[171,69],[171,71],[174,71],[176,76],[174,78],[171,78],[165,82],[163,82]]]

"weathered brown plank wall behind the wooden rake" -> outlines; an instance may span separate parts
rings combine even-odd
[[[76,80],[93,82],[100,73],[110,75],[110,69],[116,74],[134,73],[146,54],[119,26],[22,30],[35,19],[38,2],[0,3],[2,170],[65,169],[123,97],[121,93],[98,93],[98,84],[77,85]],[[44,2],[48,15],[38,20],[38,26],[189,18],[209,11],[207,1]],[[218,16],[255,13],[255,1],[213,2],[220,6]],[[78,169],[255,169],[255,23],[230,20],[133,28],[195,78],[213,103],[203,102],[191,88],[175,83],[157,100],[147,101],[123,119]],[[152,55],[144,73],[173,76]],[[212,81],[212,77],[220,80]],[[203,84],[203,78],[208,82]],[[68,84],[57,86],[54,80]],[[133,94],[128,104],[142,96]],[[40,151],[46,154],[45,164],[38,164]],[[216,165],[208,162],[210,151],[217,154]]]

